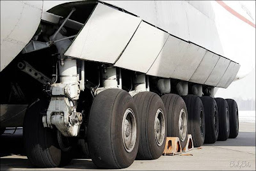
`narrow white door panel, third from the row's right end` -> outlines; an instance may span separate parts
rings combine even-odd
[[[198,68],[196,68],[195,73],[190,78],[189,82],[204,84],[211,74],[211,71],[214,69],[214,66],[218,62],[219,58],[220,56],[207,51]]]

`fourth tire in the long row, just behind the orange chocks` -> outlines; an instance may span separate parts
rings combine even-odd
[[[205,114],[202,100],[195,95],[182,97],[188,109],[188,133],[192,135],[194,147],[204,144]]]

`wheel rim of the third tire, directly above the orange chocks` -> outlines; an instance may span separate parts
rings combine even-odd
[[[180,140],[184,142],[187,135],[187,116],[184,108],[180,110],[179,115],[179,133],[180,133]]]

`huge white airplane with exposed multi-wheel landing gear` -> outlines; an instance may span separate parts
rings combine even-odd
[[[1,1],[1,133],[23,127],[31,165],[67,165],[77,140],[99,168],[155,160],[166,137],[236,138],[214,98],[255,68],[243,1]]]

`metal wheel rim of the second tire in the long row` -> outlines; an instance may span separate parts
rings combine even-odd
[[[161,146],[164,142],[164,133],[165,133],[164,114],[161,108],[157,109],[154,128],[155,128],[156,143],[158,146]]]

